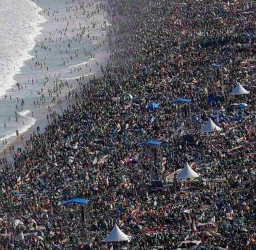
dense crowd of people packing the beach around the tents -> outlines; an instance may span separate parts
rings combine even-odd
[[[253,2],[109,0],[106,10],[104,75],[1,168],[0,249],[104,249],[114,224],[129,249],[254,249]],[[230,95],[238,82],[249,95]],[[179,97],[191,103],[170,104]],[[223,130],[203,134],[209,118]],[[146,140],[165,146],[137,146]],[[185,162],[200,178],[175,178]],[[61,205],[74,197],[89,199],[85,222],[81,205]]]

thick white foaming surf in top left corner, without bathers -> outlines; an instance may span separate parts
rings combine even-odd
[[[0,1],[0,98],[16,84],[14,75],[20,72],[28,51],[35,45],[45,18],[41,9],[29,0]]]

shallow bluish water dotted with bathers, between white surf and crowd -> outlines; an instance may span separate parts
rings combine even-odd
[[[16,85],[0,97],[2,153],[22,146],[22,141],[39,128],[43,132],[47,116],[61,113],[81,82],[101,76],[109,58],[104,1],[85,1],[84,5],[78,1],[35,3],[42,20],[35,45],[14,76]]]

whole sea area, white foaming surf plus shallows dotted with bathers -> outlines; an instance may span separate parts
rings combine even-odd
[[[106,65],[108,16],[98,3],[0,1],[0,151],[5,139],[12,143],[47,124],[48,107],[61,111],[57,102],[77,79],[89,80]]]

